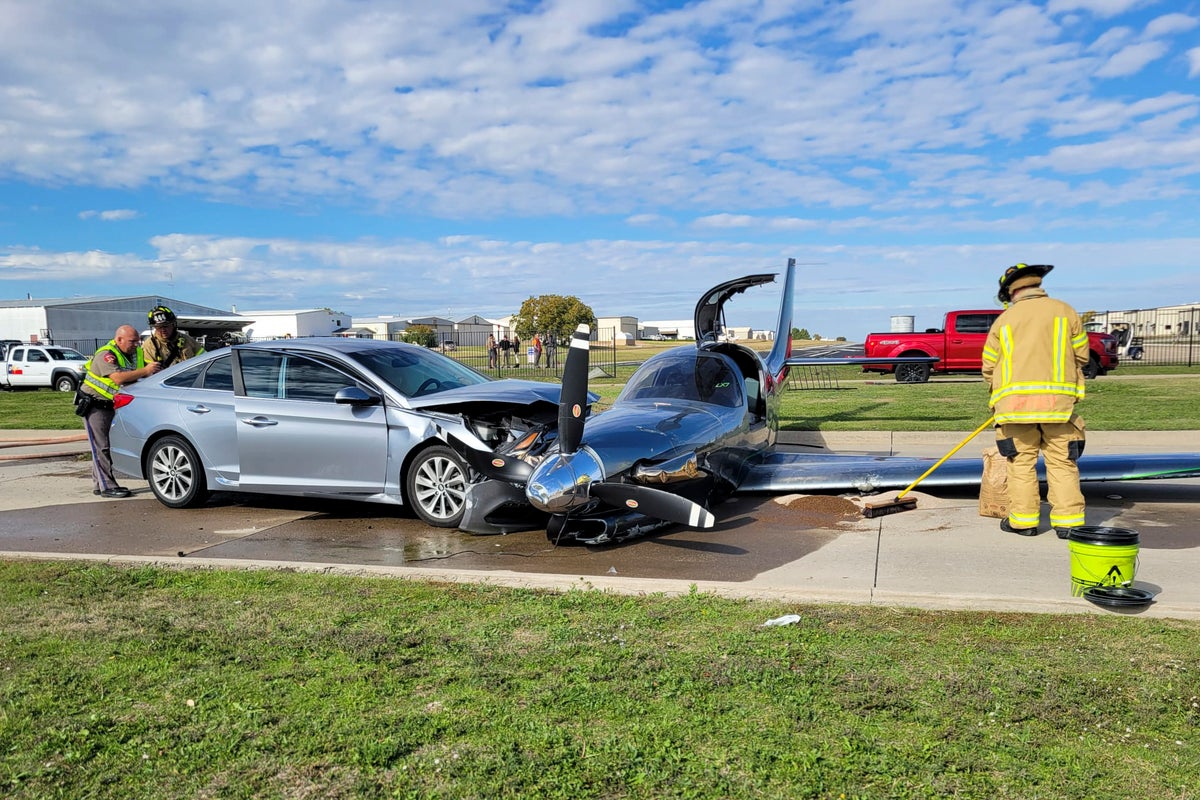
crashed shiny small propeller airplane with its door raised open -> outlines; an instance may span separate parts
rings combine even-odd
[[[510,505],[523,497],[541,512],[552,542],[604,545],[668,525],[712,528],[712,511],[738,492],[842,492],[864,494],[911,483],[932,458],[817,455],[776,447],[780,396],[794,366],[929,362],[913,357],[804,357],[791,354],[796,261],[788,259],[774,344],[760,351],[725,335],[725,305],[746,289],[775,279],[748,275],[709,289],[696,305],[696,343],[648,359],[612,408],[590,415],[589,330],[571,337],[563,371],[557,429],[532,432],[505,452],[468,453],[491,481],[472,488],[494,498],[504,486]],[[1086,481],[1200,476],[1200,453],[1085,456]],[[942,464],[924,486],[978,486],[979,459]],[[1043,475],[1044,477],[1044,475]],[[499,529],[482,519],[468,493],[460,525],[475,533]]]

